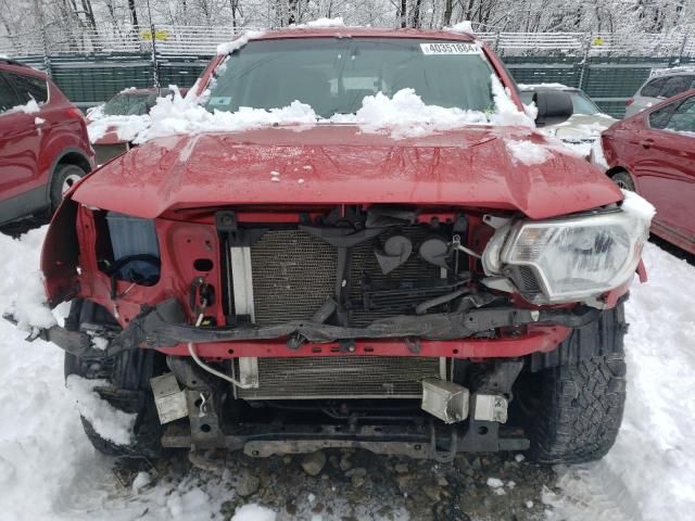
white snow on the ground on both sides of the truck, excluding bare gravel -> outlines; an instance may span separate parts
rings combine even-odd
[[[43,234],[45,229],[34,230],[18,241],[0,234],[1,310],[23,292],[27,280],[38,280]],[[654,244],[647,244],[644,257],[649,282],[635,283],[627,309],[629,394],[622,430],[602,461],[557,469],[557,481],[548,480],[542,494],[539,486],[539,497],[525,498],[529,509],[531,499],[542,499],[548,521],[681,520],[690,519],[695,509],[695,267]],[[235,497],[239,476],[233,472],[222,478],[193,471],[139,473],[132,483],[121,485],[112,471],[114,461],[94,453],[83,432],[78,406],[64,386],[62,352],[40,340],[26,342],[25,336],[10,323],[0,323],[3,521],[227,519],[219,512]],[[496,485],[496,473],[489,476],[491,486]],[[283,483],[281,488],[300,485]],[[482,485],[492,491],[484,481]],[[503,500],[519,485],[517,480],[498,487],[506,491]],[[368,491],[364,494],[376,500]],[[340,497],[321,500],[339,511]],[[241,500],[229,512],[232,521],[292,519],[257,501],[256,496]],[[396,493],[379,501],[396,505],[403,497]],[[295,519],[312,518],[311,503]],[[523,516],[517,512],[518,519],[538,519]],[[406,520],[408,514],[399,511],[395,519]]]

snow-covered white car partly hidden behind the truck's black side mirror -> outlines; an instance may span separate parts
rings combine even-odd
[[[557,125],[547,125],[541,128],[541,131],[561,140],[583,157],[590,157],[592,148],[599,142],[601,132],[617,122],[615,117],[601,112],[596,103],[581,89],[561,84],[520,84],[518,87],[521,101],[527,105],[531,104],[533,94],[539,90],[561,90],[570,96],[572,117]]]

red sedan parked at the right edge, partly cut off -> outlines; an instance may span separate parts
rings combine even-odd
[[[695,89],[602,135],[608,175],[656,206],[652,232],[695,253]]]

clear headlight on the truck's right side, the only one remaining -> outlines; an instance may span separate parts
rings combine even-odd
[[[622,209],[563,219],[519,220],[497,230],[483,253],[536,304],[573,302],[623,284],[649,237],[649,219]]]

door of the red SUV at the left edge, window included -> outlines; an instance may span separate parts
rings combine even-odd
[[[36,124],[39,113],[16,109],[31,99],[21,75],[0,71],[0,92],[7,99],[0,114],[0,201],[5,201],[37,188],[41,131]],[[38,195],[29,198],[20,211],[30,212],[28,206],[40,205]]]

